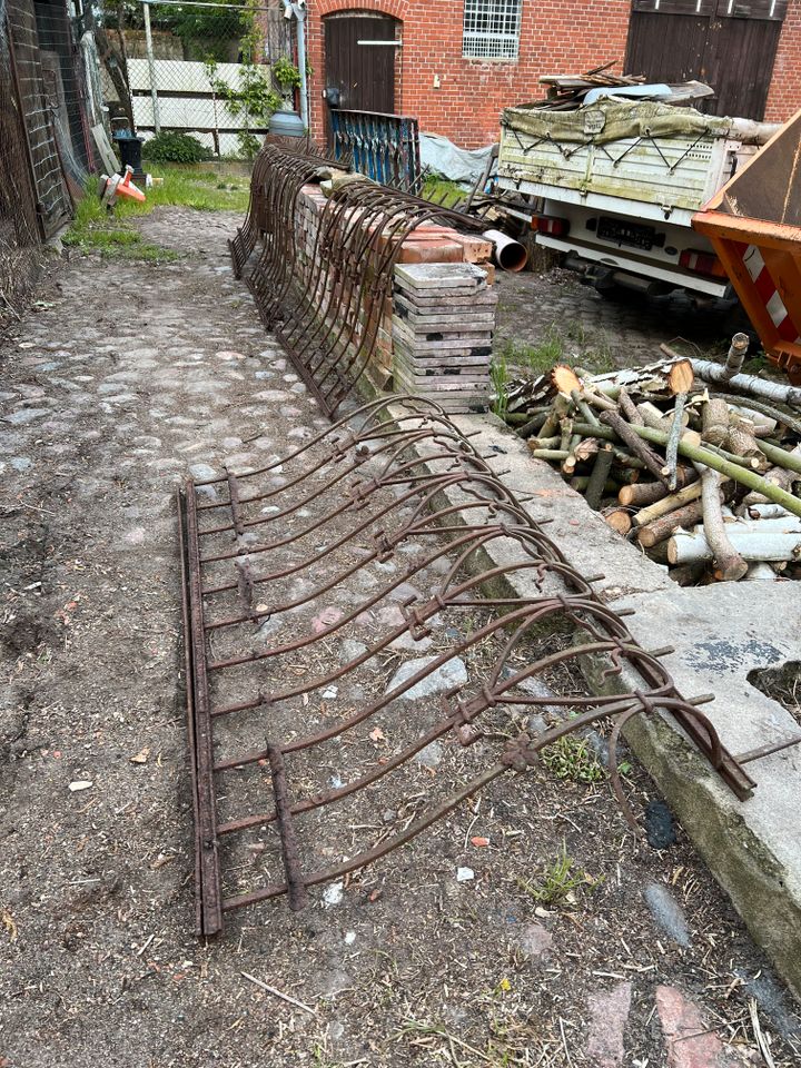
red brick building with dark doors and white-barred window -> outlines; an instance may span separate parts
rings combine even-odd
[[[708,110],[778,121],[801,107],[801,0],[308,0],[310,121],[328,102],[416,116],[463,147],[497,140],[544,73],[611,59],[708,81]],[[622,71],[619,65],[616,70]]]

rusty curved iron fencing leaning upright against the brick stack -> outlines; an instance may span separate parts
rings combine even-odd
[[[298,199],[330,161],[267,145],[250,180],[245,225],[230,241],[247,284],[322,411],[334,418],[373,363],[403,243],[425,222],[485,224],[359,176],[334,190],[314,236],[298,233]],[[261,243],[258,258],[254,250]],[[247,267],[247,271],[246,271]]]

